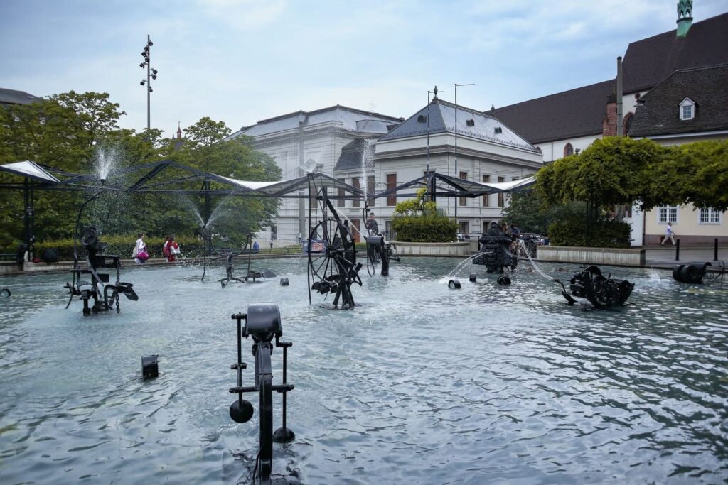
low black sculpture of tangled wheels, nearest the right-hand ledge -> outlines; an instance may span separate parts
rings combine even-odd
[[[612,279],[611,275],[604,277],[598,266],[587,266],[579,273],[574,273],[569,281],[571,294],[566,292],[562,281],[554,281],[561,284],[561,294],[569,305],[574,305],[574,297],[579,297],[588,300],[594,308],[601,309],[624,305],[635,286],[625,279]]]

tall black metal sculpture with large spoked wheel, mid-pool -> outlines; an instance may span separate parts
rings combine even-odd
[[[355,303],[351,286],[353,283],[359,286],[362,284],[359,276],[362,263],[357,263],[357,248],[349,230],[349,221],[341,220],[325,188],[319,192],[317,201],[323,220],[309,231],[306,247],[309,254],[309,303],[311,290],[314,290],[320,294],[334,294],[335,307],[339,306],[341,299],[341,308],[353,308]],[[333,217],[328,216],[329,212]]]

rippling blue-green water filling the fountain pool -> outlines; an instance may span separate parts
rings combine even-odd
[[[288,425],[274,472],[306,484],[716,483],[728,480],[728,284],[603,268],[636,283],[614,311],[569,307],[523,263],[513,284],[411,258],[363,278],[357,307],[308,305],[290,279],[226,289],[201,268],[135,268],[138,302],[84,318],[66,275],[0,278],[0,483],[249,483],[257,415],[228,416],[232,313],[280,305]],[[577,265],[541,265],[568,278]],[[561,269],[561,270],[560,270]],[[246,349],[249,349],[245,345]],[[248,351],[248,350],[246,350]],[[141,356],[160,376],[142,381]],[[273,356],[280,382],[282,354]],[[247,356],[248,362],[252,361]],[[252,371],[244,373],[252,385]],[[252,395],[251,395],[252,396]],[[280,395],[274,395],[280,426]],[[257,412],[257,402],[253,402]]]

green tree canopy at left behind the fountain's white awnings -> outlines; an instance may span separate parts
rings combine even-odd
[[[274,160],[253,148],[252,139],[223,139],[231,133],[222,121],[205,117],[184,129],[187,137],[163,137],[159,129],[119,128],[124,116],[106,93],[74,91],[37,103],[0,109],[0,164],[32,160],[67,172],[88,174],[101,159],[116,169],[170,159],[190,167],[241,180],[280,180]],[[137,176],[141,176],[137,172]],[[14,178],[15,177],[15,178]],[[162,175],[164,177],[164,175]],[[0,173],[0,182],[18,177]],[[90,196],[85,192],[36,191],[35,236],[39,241],[72,238],[75,215]],[[84,211],[84,224],[106,234],[146,231],[152,235],[200,231],[196,196],[105,193]],[[260,231],[277,213],[276,199],[215,198],[216,219],[248,234]],[[0,246],[19,241],[23,231],[23,193],[0,191]],[[228,229],[232,231],[232,229]]]

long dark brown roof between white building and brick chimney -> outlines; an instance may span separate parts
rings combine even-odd
[[[486,111],[531,143],[600,135],[613,80]]]

